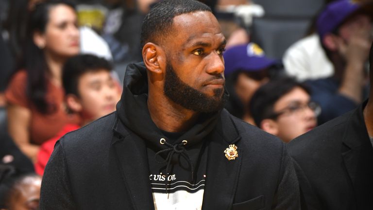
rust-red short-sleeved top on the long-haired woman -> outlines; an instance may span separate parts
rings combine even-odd
[[[46,100],[49,104],[56,105],[56,111],[43,114],[27,99],[26,84],[27,72],[25,70],[18,71],[12,77],[5,91],[5,98],[9,104],[20,105],[30,109],[29,132],[31,143],[40,145],[54,137],[64,125],[80,123],[80,118],[77,114],[68,115],[66,113],[64,106],[65,91],[62,87],[57,87],[47,81]]]

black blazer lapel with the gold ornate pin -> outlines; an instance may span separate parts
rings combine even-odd
[[[231,209],[237,188],[241,159],[244,154],[236,144],[238,157],[228,160],[224,155],[224,150],[239,140],[240,137],[234,123],[223,110],[217,128],[213,131],[208,144],[203,210]]]

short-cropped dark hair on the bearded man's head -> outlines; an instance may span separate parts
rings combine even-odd
[[[140,45],[158,44],[172,32],[173,18],[197,11],[212,12],[210,7],[197,0],[162,0],[156,3],[142,22]]]

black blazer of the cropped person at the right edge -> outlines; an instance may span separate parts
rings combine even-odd
[[[303,209],[373,210],[373,147],[365,105],[288,143]]]

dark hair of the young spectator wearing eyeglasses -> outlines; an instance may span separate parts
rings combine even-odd
[[[271,119],[274,114],[274,104],[296,87],[302,88],[310,94],[309,89],[304,84],[289,77],[271,80],[258,88],[250,102],[250,112],[255,124],[260,127],[260,123],[264,119]]]

